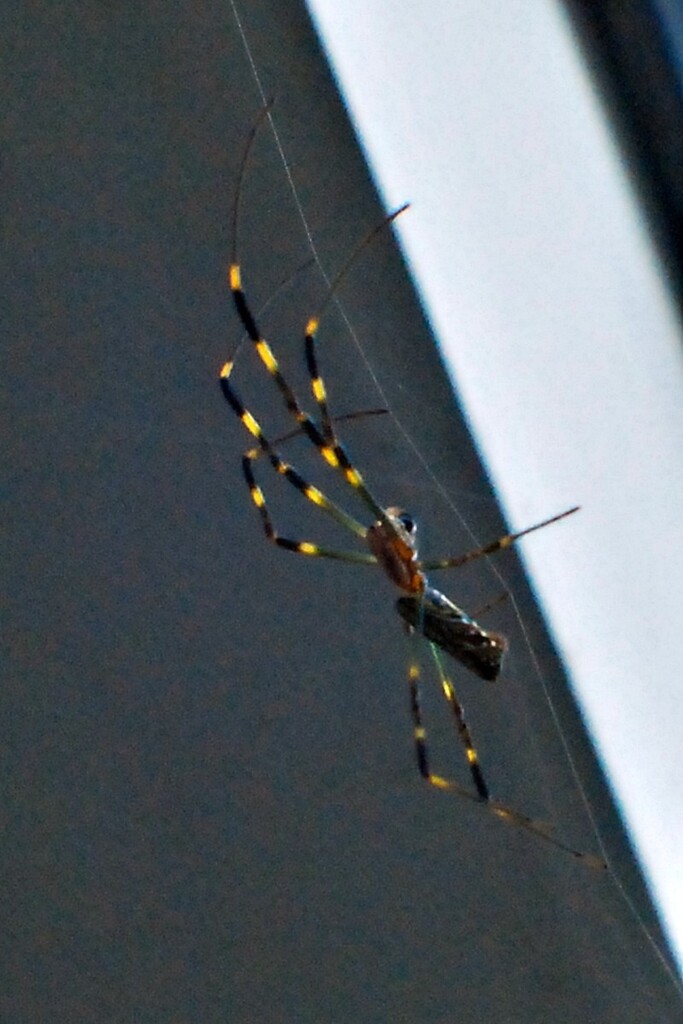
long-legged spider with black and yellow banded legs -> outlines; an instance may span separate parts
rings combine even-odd
[[[298,397],[283,375],[278,357],[257,325],[256,316],[252,311],[252,307],[242,286],[242,270],[238,258],[238,222],[243,180],[258,126],[268,114],[268,110],[269,104],[262,110],[260,117],[252,127],[240,168],[233,208],[232,254],[228,270],[228,282],[237,314],[247,336],[253,343],[261,362],[280,390],[287,411],[296,424],[295,430],[286,435],[286,437],[281,437],[273,441],[266,437],[258,420],[243,403],[232,383],[232,370],[236,356],[223,365],[219,377],[220,387],[225,399],[245,429],[257,442],[255,447],[251,447],[244,453],[242,470],[251,501],[260,516],[263,532],[270,543],[295,554],[379,566],[384,570],[397,590],[400,591],[401,596],[398,597],[395,604],[396,610],[404,621],[409,632],[424,636],[429,645],[443,696],[451,709],[456,731],[465,752],[473,788],[462,785],[452,778],[435,774],[431,770],[427,748],[427,732],[423,723],[420,703],[421,672],[418,660],[413,658],[408,672],[413,737],[418,769],[426,782],[436,788],[451,791],[460,797],[484,806],[498,818],[533,833],[546,842],[570,853],[573,857],[587,864],[604,866],[604,862],[601,859],[592,854],[577,850],[557,839],[549,831],[547,824],[522,814],[492,797],[488,785],[484,780],[463,707],[456,695],[453,682],[445,671],[441,652],[452,655],[480,679],[495,680],[500,675],[508,643],[506,638],[499,633],[483,629],[462,608],[458,607],[445,595],[432,587],[427,575],[433,569],[458,568],[467,562],[509,548],[520,538],[526,537],[535,530],[542,529],[551,523],[571,515],[578,511],[578,507],[567,509],[559,515],[545,519],[543,522],[536,523],[519,532],[506,534],[504,537],[482,547],[468,551],[465,554],[434,560],[424,560],[419,556],[417,543],[418,530],[414,517],[400,508],[394,506],[384,507],[381,505],[368,487],[360,471],[351,461],[336,430],[336,424],[339,420],[348,419],[349,417],[335,419],[331,416],[326,385],[318,369],[317,333],[319,323],[325,308],[332,299],[341,279],[358,253],[368,246],[375,234],[391,223],[405,207],[401,207],[386,217],[362,240],[329,286],[326,299],[321,306],[318,314],[308,319],[304,331],[304,352],[307,372],[310,378],[310,388],[317,408],[317,419],[309,416],[302,409]],[[351,418],[354,415],[359,416],[362,414],[351,414]],[[282,442],[297,433],[303,434],[311,442],[323,460],[329,466],[333,467],[333,469],[337,470],[349,488],[357,495],[372,517],[370,526],[365,525],[349,515],[336,502],[329,499],[317,486],[304,479],[298,470],[282,456],[280,451]],[[288,480],[307,501],[311,502],[351,534],[359,538],[365,543],[366,550],[342,551],[322,547],[311,541],[291,540],[282,537],[275,528],[263,490],[255,477],[254,464],[260,458],[266,459],[275,473]]]

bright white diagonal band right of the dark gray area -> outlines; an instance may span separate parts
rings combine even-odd
[[[554,0],[311,0],[653,894],[683,952],[683,358]],[[390,15],[387,13],[390,10]]]

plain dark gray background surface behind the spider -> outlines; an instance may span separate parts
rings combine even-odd
[[[383,211],[304,10],[248,8],[334,273]],[[3,36],[3,1019],[681,1019],[609,873],[420,782],[408,643],[379,574],[259,534],[246,435],[217,385],[241,333],[225,265],[260,104],[229,6],[25,5],[6,10]],[[267,129],[241,256],[256,306],[309,257]],[[324,294],[308,269],[264,317],[302,385],[302,327]],[[429,553],[469,546],[445,496],[495,537],[503,523],[388,233],[341,298],[392,413],[344,431],[378,498],[419,516]],[[251,355],[236,381],[285,430]],[[322,357],[336,410],[384,403],[332,310]],[[289,532],[348,544],[263,483]],[[660,943],[514,554],[500,564],[610,860]],[[481,564],[441,584],[469,608],[500,593]],[[492,787],[595,850],[512,602],[486,622],[513,645],[504,679],[456,679]],[[425,702],[436,767],[465,779],[435,686]]]

